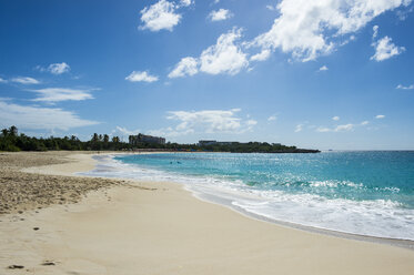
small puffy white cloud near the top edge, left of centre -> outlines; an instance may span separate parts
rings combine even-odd
[[[175,13],[176,8],[174,3],[166,0],[160,0],[150,7],[145,7],[141,10],[143,26],[140,29],[150,31],[165,29],[172,31],[174,26],[181,20],[181,14]]]

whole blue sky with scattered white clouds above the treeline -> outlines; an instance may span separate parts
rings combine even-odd
[[[0,128],[414,150],[413,0],[3,0]]]

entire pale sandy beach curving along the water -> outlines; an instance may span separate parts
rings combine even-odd
[[[85,153],[1,154],[0,274],[412,274],[414,251],[283,227],[174,183],[74,176]]]

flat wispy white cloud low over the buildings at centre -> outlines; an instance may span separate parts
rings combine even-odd
[[[258,122],[242,120],[236,114],[240,109],[204,110],[204,111],[174,111],[169,112],[168,120],[178,121],[175,128],[158,130],[158,134],[178,136],[189,133],[241,133],[251,130]],[[155,132],[152,131],[152,134]],[[161,134],[161,135],[162,135]]]

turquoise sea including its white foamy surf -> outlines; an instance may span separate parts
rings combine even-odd
[[[266,221],[414,241],[414,151],[97,157],[87,175],[178,182],[201,200]]]

